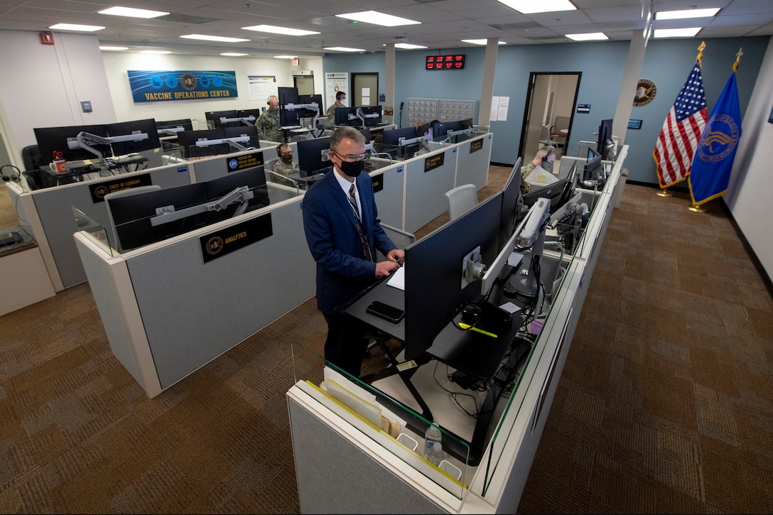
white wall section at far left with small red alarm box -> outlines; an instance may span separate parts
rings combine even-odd
[[[35,145],[33,128],[116,121],[97,37],[0,30],[0,121],[9,155],[21,166],[22,148]],[[83,113],[80,101],[94,111]]]

